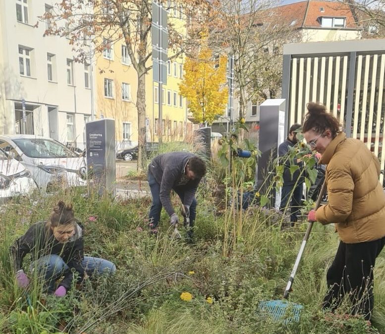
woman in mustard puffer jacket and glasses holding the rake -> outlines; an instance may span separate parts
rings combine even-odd
[[[346,138],[338,120],[324,105],[308,103],[302,131],[313,151],[327,164],[328,204],[311,210],[309,222],[335,224],[340,242],[327,273],[323,307],[334,311],[345,295],[351,314],[370,320],[373,270],[385,244],[385,193],[379,182],[380,162],[367,145]]]

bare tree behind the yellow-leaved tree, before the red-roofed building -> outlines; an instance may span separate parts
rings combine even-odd
[[[245,117],[247,103],[261,98],[266,90],[275,97],[280,82],[281,45],[290,39],[294,29],[279,21],[274,9],[276,5],[277,0],[213,2],[216,15],[211,22],[210,45],[219,52],[224,49],[234,55],[239,118]],[[268,19],[271,13],[275,16],[274,20]],[[271,66],[272,61],[274,66]],[[268,80],[269,77],[274,79]]]

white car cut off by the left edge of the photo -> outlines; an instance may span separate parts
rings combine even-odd
[[[19,161],[8,158],[5,152],[0,150],[0,201],[28,195],[36,189],[31,173]]]

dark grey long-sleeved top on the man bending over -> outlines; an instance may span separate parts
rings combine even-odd
[[[184,205],[191,205],[201,179],[187,180],[184,170],[188,160],[194,154],[188,152],[171,152],[156,156],[149,165],[149,171],[161,185],[160,198],[162,205],[171,216],[175,213],[171,200],[171,189],[183,188]]]

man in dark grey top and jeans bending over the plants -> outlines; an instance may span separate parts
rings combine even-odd
[[[197,201],[195,193],[201,179],[206,174],[206,163],[198,156],[188,152],[171,152],[156,156],[148,169],[148,182],[153,196],[149,221],[152,232],[157,232],[162,206],[170,216],[170,224],[179,223],[171,204],[170,192],[174,190],[190,217],[188,237],[192,238],[192,228],[196,216]]]

